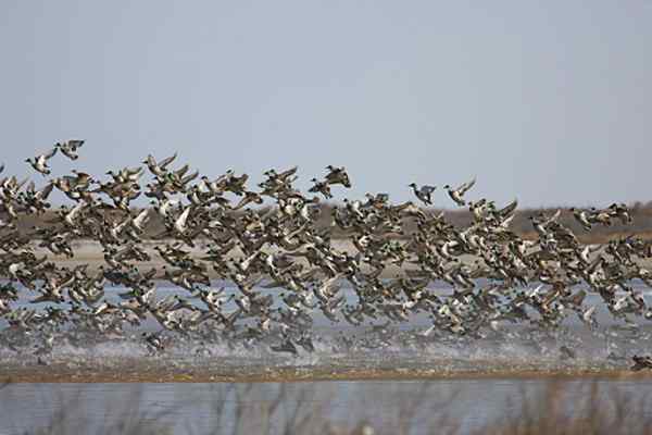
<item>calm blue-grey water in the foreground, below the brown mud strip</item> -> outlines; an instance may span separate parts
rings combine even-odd
[[[286,384],[13,384],[0,391],[0,433],[34,432],[60,422],[63,433],[97,432],[108,424],[148,420],[170,433],[283,433],[296,409],[337,427],[363,420],[378,427],[406,424],[411,434],[478,430],[542,402],[550,381],[316,382]],[[652,381],[595,381],[600,398],[638,401]],[[584,412],[586,381],[561,384],[563,406]],[[280,398],[278,408],[273,408]],[[649,408],[652,413],[652,409]],[[413,410],[413,414],[406,413]],[[237,415],[240,415],[238,419]],[[266,419],[265,415],[272,415]],[[408,419],[406,415],[410,415]],[[268,421],[267,421],[268,420]],[[237,426],[236,426],[237,425]],[[304,432],[301,432],[304,433]]]

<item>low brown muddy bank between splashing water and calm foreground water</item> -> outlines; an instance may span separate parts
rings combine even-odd
[[[652,370],[632,371],[629,361],[604,360],[460,360],[387,361],[362,366],[360,362],[286,365],[259,360],[238,364],[223,358],[180,361],[161,357],[102,360],[2,361],[0,381],[11,383],[167,383],[167,382],[301,382],[401,381],[463,378],[652,378]]]

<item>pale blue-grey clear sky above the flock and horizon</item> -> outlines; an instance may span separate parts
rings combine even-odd
[[[351,197],[651,199],[650,1],[3,0],[0,53],[10,173],[75,137],[92,172],[178,150],[301,187],[344,165]]]

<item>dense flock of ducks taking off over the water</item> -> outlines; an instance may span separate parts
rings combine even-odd
[[[427,208],[436,187],[415,183],[409,185],[415,201],[393,204],[385,194],[367,194],[321,207],[318,196],[328,200],[331,189],[351,187],[344,167],[333,165],[312,179],[308,194],[293,186],[297,167],[271,169],[251,189],[247,174],[230,170],[211,178],[188,164],[173,169],[176,153],[108,171],[104,181],[78,171],[47,177],[59,151],[76,161],[83,145],[68,140],[26,160],[47,178],[43,187],[0,175],[0,345],[16,352],[47,355],[58,343],[124,339],[150,320],[156,331],[141,336],[152,352],[183,336],[297,355],[315,348],[315,313],[333,323],[369,325],[374,339],[339,337],[338,346],[348,348],[496,337],[510,323],[550,332],[570,315],[598,331],[588,294],[599,295],[627,330],[639,331],[637,318],[652,320],[632,286],[636,279],[652,285],[652,272],[641,265],[652,257],[652,244],[630,236],[582,245],[559,220],[572,213],[585,231],[614,220],[629,224],[624,204],[535,215],[537,237],[524,239],[510,229],[517,202],[471,200],[475,179],[443,186],[473,216],[455,227]],[[54,189],[72,204],[54,210],[48,201]],[[133,206],[141,196],[151,207]],[[264,201],[273,207],[256,207]],[[330,227],[317,225],[325,210],[331,211]],[[41,219],[20,227],[25,216],[46,212],[53,216],[46,224]],[[163,231],[152,235],[154,220]],[[334,244],[334,229],[349,248]],[[146,247],[152,238],[155,253]],[[75,257],[76,240],[99,244],[104,264],[58,264],[57,258]],[[200,254],[198,245],[206,247]],[[145,270],[141,263],[152,257],[164,265]],[[213,287],[210,274],[235,290]],[[108,297],[109,284],[124,289],[117,301]],[[183,296],[160,297],[158,286],[178,287]],[[343,287],[352,289],[349,297]],[[28,303],[18,308],[21,296]],[[428,318],[427,328],[391,330],[417,315]],[[572,352],[566,350],[562,355]],[[652,360],[636,358],[637,368],[652,366]]]

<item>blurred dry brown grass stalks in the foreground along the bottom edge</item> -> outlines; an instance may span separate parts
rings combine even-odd
[[[459,390],[441,395],[436,382],[412,384],[409,389],[398,388],[390,397],[379,397],[378,390],[362,388],[353,391],[351,402],[360,405],[355,414],[340,407],[339,417],[334,384],[276,384],[271,395],[261,396],[265,384],[216,385],[211,396],[210,412],[202,423],[212,427],[209,432],[198,430],[193,421],[171,424],[171,409],[156,413],[140,407],[141,396],[129,393],[121,403],[118,418],[104,421],[99,430],[96,421],[79,415],[82,396],[61,397],[59,409],[50,423],[32,434],[327,434],[327,435],[408,435],[408,434],[652,434],[652,414],[649,400],[635,402],[631,397],[613,387],[597,382],[564,383],[550,381],[537,391],[524,387],[505,403],[505,411],[498,419],[469,427],[463,422],[473,414],[481,413],[486,405],[477,400],[464,411],[453,412]],[[271,388],[272,384],[265,387]],[[272,385],[274,386],[274,385]],[[363,385],[366,387],[367,385]],[[569,395],[569,391],[573,393]],[[214,393],[214,394],[213,394]],[[578,399],[579,396],[579,399]],[[0,402],[11,400],[0,396]],[[570,402],[573,401],[573,402]],[[383,402],[383,406],[379,403]],[[197,403],[187,403],[192,407]],[[205,403],[204,403],[205,405]],[[496,403],[494,403],[496,405]],[[572,407],[570,407],[572,405]],[[178,405],[176,406],[178,408]],[[4,414],[7,418],[7,414]],[[176,419],[175,419],[176,420]],[[206,421],[208,420],[208,421]],[[93,430],[91,430],[93,427]]]

